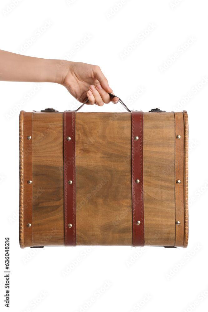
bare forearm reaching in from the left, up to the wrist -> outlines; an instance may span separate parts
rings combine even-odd
[[[0,50],[0,80],[62,83],[65,66],[60,60],[24,56]]]

